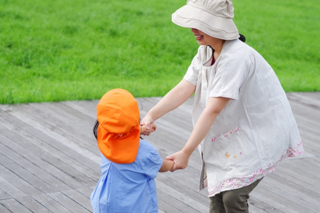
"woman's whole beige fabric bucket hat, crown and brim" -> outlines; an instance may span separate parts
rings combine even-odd
[[[187,0],[186,5],[172,14],[172,22],[212,37],[233,40],[239,37],[233,17],[231,0]]]

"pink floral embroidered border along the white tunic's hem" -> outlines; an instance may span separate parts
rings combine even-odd
[[[231,178],[228,180],[221,181],[217,185],[208,188],[209,197],[214,196],[220,192],[238,189],[250,185],[251,183],[255,182],[266,176],[267,174],[273,172],[278,165],[278,163],[288,157],[296,157],[303,152],[302,142],[300,141],[293,149],[289,148],[286,152],[275,162],[267,165],[263,169],[256,170],[249,175]],[[240,153],[241,155],[242,153]],[[207,180],[204,180],[207,185]],[[203,184],[204,185],[204,184]]]

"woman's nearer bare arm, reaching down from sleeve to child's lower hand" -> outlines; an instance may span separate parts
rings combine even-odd
[[[209,132],[215,117],[222,111],[229,100],[229,98],[223,97],[210,97],[208,99],[183,149],[165,158],[166,160],[174,161],[171,172],[177,169],[184,169],[188,165],[190,155]]]

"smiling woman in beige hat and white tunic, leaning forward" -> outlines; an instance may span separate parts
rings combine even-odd
[[[269,64],[238,39],[231,0],[188,0],[172,21],[191,28],[198,44],[185,76],[142,119],[150,123],[194,92],[193,131],[168,156],[183,169],[198,147],[199,190],[208,187],[210,213],[248,212],[249,193],[278,162],[303,152],[285,93]],[[147,135],[147,134],[145,134]]]

